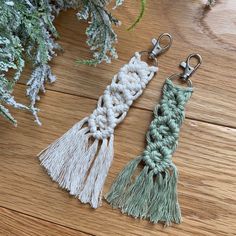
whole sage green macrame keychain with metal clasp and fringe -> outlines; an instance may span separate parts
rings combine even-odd
[[[198,60],[194,68],[190,66],[191,58]],[[160,104],[154,109],[154,119],[146,135],[144,152],[121,171],[105,196],[122,213],[153,223],[163,222],[166,226],[181,222],[177,196],[178,171],[172,154],[178,144],[185,105],[193,93],[189,77],[201,62],[199,54],[191,54],[186,62],[180,64],[184,73],[166,79]],[[187,82],[188,87],[175,85],[172,80],[176,78]]]

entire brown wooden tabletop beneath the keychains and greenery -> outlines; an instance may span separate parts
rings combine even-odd
[[[51,63],[58,80],[47,86],[38,103],[43,123],[14,111],[18,128],[0,120],[0,235],[236,235],[236,2],[217,1],[211,11],[203,1],[148,0],[143,20],[127,27],[138,14],[139,1],[125,1],[115,11],[119,59],[97,67],[77,66],[91,54],[85,44],[86,24],[74,11],[56,20],[64,47]],[[116,129],[115,158],[104,192],[122,167],[143,150],[152,109],[165,78],[192,52],[204,63],[192,78],[195,92],[187,105],[174,162],[179,168],[179,201],[183,223],[163,228],[113,210],[106,202],[97,210],[58,189],[40,167],[36,154],[94,109],[112,76],[134,51],[150,48],[162,32],[173,35],[168,53],[159,58],[158,75]],[[27,78],[28,73],[24,78]],[[24,83],[15,97],[23,96]]]

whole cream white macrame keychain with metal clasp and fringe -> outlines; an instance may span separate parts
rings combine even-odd
[[[162,47],[164,37],[169,41]],[[158,70],[156,57],[169,49],[172,38],[164,33],[152,43],[153,50],[147,53],[155,66],[141,60],[146,51],[136,52],[114,76],[93,113],[38,154],[53,181],[93,208],[101,205],[103,185],[113,160],[114,129],[154,77]]]

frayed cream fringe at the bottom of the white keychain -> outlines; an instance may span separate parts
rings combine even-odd
[[[113,160],[113,135],[91,141],[88,118],[75,124],[61,138],[38,154],[41,165],[58,185],[93,208],[101,205],[102,189]]]

